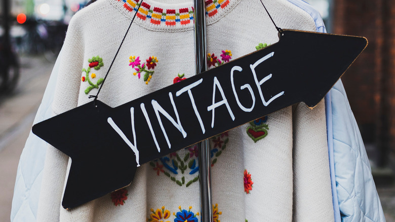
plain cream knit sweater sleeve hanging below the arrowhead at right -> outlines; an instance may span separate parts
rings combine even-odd
[[[293,113],[294,221],[334,221],[325,103]]]

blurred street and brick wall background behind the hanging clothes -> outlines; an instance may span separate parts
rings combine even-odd
[[[330,33],[369,46],[342,78],[388,222],[395,221],[395,0],[305,0]],[[0,1],[0,221],[10,221],[19,157],[62,47],[85,0]]]

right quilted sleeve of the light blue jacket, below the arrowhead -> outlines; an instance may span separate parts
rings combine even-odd
[[[342,221],[385,221],[365,146],[341,81],[333,87],[331,94],[332,115],[337,118],[337,125],[333,126],[333,139]],[[352,161],[344,162],[342,158]]]

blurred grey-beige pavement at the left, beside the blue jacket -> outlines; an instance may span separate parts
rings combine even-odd
[[[41,103],[54,62],[21,56],[20,81],[0,97],[0,221],[10,221],[19,157]]]

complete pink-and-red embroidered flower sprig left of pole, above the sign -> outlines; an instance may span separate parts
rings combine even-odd
[[[151,81],[152,75],[155,72],[153,69],[156,66],[156,62],[158,62],[157,58],[154,56],[149,57],[147,60],[145,60],[146,63],[143,63],[141,65],[141,60],[140,56],[136,58],[136,56],[130,56],[129,57],[129,66],[132,66],[136,70],[136,72],[133,72],[134,76],[138,76],[138,78],[141,78],[141,73],[144,73],[144,82],[145,84],[148,85],[149,81]],[[152,70],[149,70],[152,69]]]

